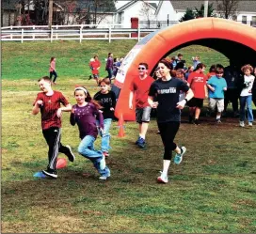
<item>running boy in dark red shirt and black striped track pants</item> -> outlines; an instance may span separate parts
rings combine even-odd
[[[64,147],[60,143],[61,115],[63,111],[71,111],[72,105],[61,92],[52,89],[51,79],[48,76],[39,79],[39,86],[42,92],[38,93],[33,103],[32,115],[37,115],[40,112],[42,134],[49,146],[49,164],[46,170],[42,170],[40,177],[56,179],[56,160],[58,152],[66,154],[71,162],[75,159],[72,154],[72,148],[70,146]],[[60,103],[62,103],[64,107],[60,107]]]

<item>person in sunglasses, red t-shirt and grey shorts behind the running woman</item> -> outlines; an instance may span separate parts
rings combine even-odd
[[[151,120],[152,107],[148,102],[148,94],[152,82],[154,81],[148,75],[149,65],[140,63],[138,65],[138,76],[132,81],[130,86],[129,108],[133,109],[133,99],[136,98],[136,122],[138,123],[139,135],[136,145],[139,148],[145,147],[145,138]]]

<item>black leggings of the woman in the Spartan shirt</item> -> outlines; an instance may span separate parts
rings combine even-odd
[[[164,160],[171,160],[172,151],[177,148],[177,145],[173,142],[176,133],[180,128],[180,122],[165,122],[157,123],[162,142],[165,147]]]

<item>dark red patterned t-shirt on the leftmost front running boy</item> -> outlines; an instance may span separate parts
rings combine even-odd
[[[39,100],[43,101],[43,105],[40,107],[42,130],[51,127],[61,128],[61,119],[56,116],[56,111],[60,108],[60,103],[66,106],[69,104],[69,101],[67,101],[63,94],[58,91],[54,91],[52,96],[47,96],[43,92],[38,93],[33,105]]]

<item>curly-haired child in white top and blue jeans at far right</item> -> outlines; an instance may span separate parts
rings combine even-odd
[[[253,113],[252,113],[252,86],[254,83],[255,77],[251,75],[253,68],[247,64],[241,69],[244,73],[242,91],[240,93],[240,126],[245,127],[245,118],[246,118],[246,106],[248,113],[248,126],[252,126],[253,122]]]

